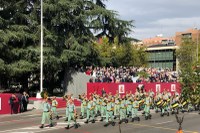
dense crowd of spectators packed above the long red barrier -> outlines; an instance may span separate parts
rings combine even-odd
[[[87,67],[90,82],[177,82],[178,73],[170,69],[144,67]]]

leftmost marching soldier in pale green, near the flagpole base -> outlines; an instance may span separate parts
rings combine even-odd
[[[49,127],[53,127],[52,120],[50,119],[50,111],[51,111],[51,105],[48,103],[48,97],[44,98],[44,101],[42,103],[43,113],[42,113],[42,121],[40,128],[44,128],[44,123],[47,120],[49,123]]]

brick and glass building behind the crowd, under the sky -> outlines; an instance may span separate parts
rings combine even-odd
[[[156,36],[142,40],[142,45],[147,47],[148,66],[154,68],[178,69],[178,60],[176,50],[179,48],[184,39],[191,39],[197,46],[198,55],[200,30],[188,29],[183,32],[176,32],[174,37]]]

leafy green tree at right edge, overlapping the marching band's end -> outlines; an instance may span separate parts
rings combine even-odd
[[[177,50],[177,58],[180,66],[182,95],[193,103],[199,98],[200,92],[200,68],[196,62],[196,44],[185,39]]]

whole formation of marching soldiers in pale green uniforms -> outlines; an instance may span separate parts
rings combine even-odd
[[[73,102],[72,95],[65,95],[63,99],[66,100],[66,129],[70,128],[70,122],[74,121],[74,128],[78,128],[80,125],[77,123],[78,114]],[[179,93],[174,92],[171,94],[169,91],[164,90],[162,93],[157,92],[154,94],[152,90],[145,92],[143,90],[136,90],[135,93],[131,91],[125,95],[111,93],[102,95],[96,92],[89,94],[79,95],[81,100],[81,113],[80,119],[86,119],[85,123],[95,123],[96,117],[101,117],[100,121],[105,121],[104,126],[115,126],[116,120],[118,124],[140,121],[140,117],[144,117],[145,120],[151,119],[151,109],[154,109],[156,113],[160,112],[160,116],[169,116],[170,113],[178,114],[181,112],[190,112],[193,110],[199,110],[199,105],[192,105],[190,99],[184,99]],[[51,100],[50,105],[48,100]],[[59,119],[56,112],[56,106],[58,102],[56,97],[46,97],[43,103],[43,115],[40,128],[44,127],[45,119],[49,120],[50,127],[53,126],[53,116]],[[142,111],[142,116],[139,117],[138,111]]]

